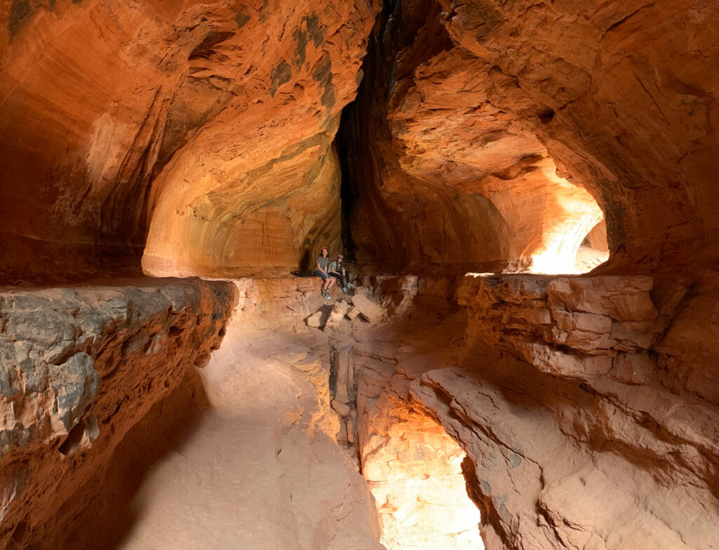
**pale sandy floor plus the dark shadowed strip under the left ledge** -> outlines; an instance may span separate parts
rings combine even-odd
[[[127,434],[46,548],[383,550],[367,483],[334,441],[328,334],[303,324],[324,299],[307,279],[234,283],[221,349],[190,371],[198,390],[188,380]]]

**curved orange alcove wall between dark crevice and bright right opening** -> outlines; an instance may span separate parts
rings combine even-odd
[[[572,272],[603,213],[523,113],[495,104],[524,100],[445,18],[434,1],[395,2],[372,35],[339,136],[357,256],[383,272],[526,270],[534,257]]]

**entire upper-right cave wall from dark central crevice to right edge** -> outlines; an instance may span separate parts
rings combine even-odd
[[[600,217],[586,188],[618,265],[713,265],[718,15],[690,0],[387,4],[341,131],[359,258],[447,272],[572,255]]]

